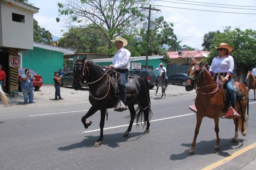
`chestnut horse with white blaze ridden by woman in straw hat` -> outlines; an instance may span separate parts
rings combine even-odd
[[[219,117],[224,116],[223,109],[227,106],[227,102],[224,101],[224,91],[221,89],[219,83],[213,81],[211,74],[202,65],[201,61],[193,60],[190,68],[188,69],[188,78],[186,80],[186,91],[196,90],[197,96],[195,98],[195,107],[197,109],[197,122],[195,126],[195,136],[192,142],[192,146],[189,149],[189,155],[194,154],[196,139],[199,133],[200,125],[204,117],[214,119],[215,122],[215,133],[216,133],[216,144],[214,149],[220,149],[220,138],[219,138]],[[221,82],[220,82],[221,83]],[[248,91],[244,84],[240,82],[234,82],[245,99],[242,99],[240,103],[237,101],[237,112],[241,117],[233,119],[235,124],[235,136],[231,139],[231,142],[236,142],[238,138],[238,129],[243,136],[246,135],[245,129],[247,128],[247,116],[245,114],[248,102]],[[244,119],[243,119],[244,118]]]

